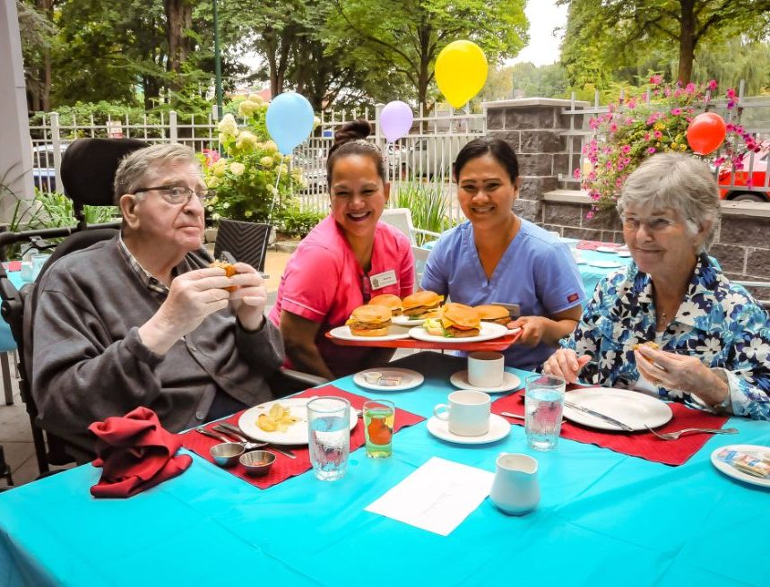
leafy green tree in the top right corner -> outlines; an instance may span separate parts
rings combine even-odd
[[[741,34],[770,32],[770,0],[559,0],[569,4],[562,61],[579,82],[576,66],[634,65],[650,51],[677,56],[676,79],[691,81],[696,49]],[[620,59],[618,59],[620,57]],[[601,72],[593,82],[600,85]]]

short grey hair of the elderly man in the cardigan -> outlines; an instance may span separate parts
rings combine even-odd
[[[192,163],[197,168],[201,167],[201,162],[195,157],[195,151],[183,144],[153,144],[130,152],[120,161],[115,172],[116,205],[123,194],[133,194],[134,190],[140,187],[148,187],[143,186],[143,183],[149,180],[148,176],[177,162]]]

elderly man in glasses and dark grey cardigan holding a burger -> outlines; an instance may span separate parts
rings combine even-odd
[[[91,422],[137,406],[178,431],[273,399],[264,376],[281,366],[281,334],[253,267],[227,277],[208,266],[195,153],[132,152],[115,194],[121,234],[63,256],[39,283],[32,393],[43,427],[91,446]]]

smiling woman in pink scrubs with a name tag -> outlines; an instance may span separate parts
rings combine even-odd
[[[409,239],[379,222],[390,194],[382,152],[365,120],[334,134],[326,161],[331,213],[299,244],[281,278],[270,319],[281,328],[287,367],[334,379],[377,367],[393,350],[341,347],[324,334],[352,310],[390,293],[414,290]]]

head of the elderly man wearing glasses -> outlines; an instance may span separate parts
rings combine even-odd
[[[156,144],[133,151],[115,174],[115,198],[126,237],[179,255],[201,246],[206,194],[195,151],[181,144]]]

